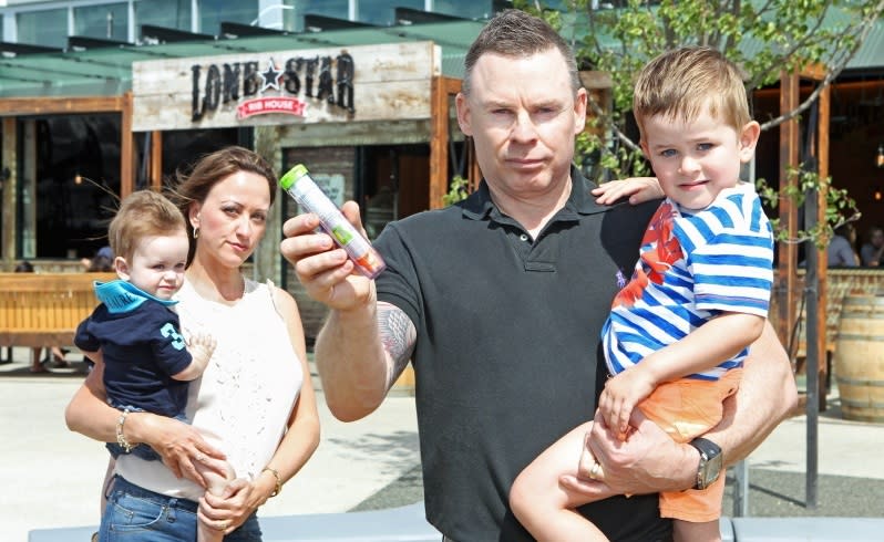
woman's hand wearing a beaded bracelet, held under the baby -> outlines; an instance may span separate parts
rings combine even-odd
[[[206,442],[197,429],[177,419],[147,413],[132,413],[129,419],[137,420],[137,424],[133,424],[135,427],[130,440],[150,445],[177,478],[185,477],[205,488],[206,481],[195,463],[212,466],[214,461],[206,462],[206,458],[227,458],[223,451]],[[225,475],[224,471],[218,473]]]

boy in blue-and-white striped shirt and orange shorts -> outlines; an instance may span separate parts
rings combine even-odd
[[[767,317],[771,228],[752,187],[739,183],[760,126],[750,117],[739,70],[708,48],[679,49],[648,63],[633,110],[667,199],[603,330],[615,376],[598,408],[624,439],[637,406],[675,440],[691,442],[721,419],[722,402],[736,393],[748,345]],[[589,424],[551,446],[513,484],[513,512],[537,539],[607,540],[575,513],[585,498],[558,484],[559,476],[580,470],[576,459]],[[604,476],[597,462],[587,471]],[[676,520],[677,541],[720,540],[724,477],[698,481],[708,487],[660,494],[660,513]]]

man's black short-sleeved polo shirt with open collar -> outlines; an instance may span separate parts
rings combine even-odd
[[[494,207],[483,181],[456,206],[389,225],[376,243],[388,264],[378,299],[418,330],[428,519],[458,541],[531,540],[508,510],[510,487],[595,411],[602,325],[659,201],[599,206],[574,168],[572,179],[537,239]],[[656,496],[585,509],[613,540],[647,542],[669,528]]]

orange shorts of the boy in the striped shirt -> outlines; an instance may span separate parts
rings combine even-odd
[[[662,384],[638,407],[677,442],[688,442],[715,427],[722,416],[722,403],[740,387],[742,368],[730,369],[718,381],[682,378]],[[705,490],[689,489],[660,493],[660,515],[706,522],[721,515],[724,472]]]

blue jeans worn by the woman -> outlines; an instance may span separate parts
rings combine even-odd
[[[196,540],[196,509],[198,504],[176,499],[130,483],[114,477],[107,507],[101,519],[101,542],[184,542]],[[224,538],[225,542],[260,542],[258,517],[251,514],[245,523]]]

